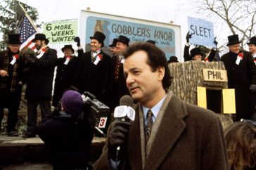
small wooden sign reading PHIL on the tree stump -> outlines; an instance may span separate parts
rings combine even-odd
[[[203,69],[204,81],[228,81],[226,70]]]

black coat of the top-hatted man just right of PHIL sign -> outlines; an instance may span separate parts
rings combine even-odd
[[[236,65],[236,56],[231,52],[222,55],[227,75],[229,89],[235,89],[236,115],[238,119],[252,115],[256,112],[256,93],[250,91],[250,84],[256,84],[256,66],[252,55],[243,51],[243,60]]]

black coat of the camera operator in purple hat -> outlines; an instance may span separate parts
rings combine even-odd
[[[35,128],[49,151],[49,161],[58,166],[82,168],[90,159],[94,129],[86,122],[77,122],[70,115],[53,114]]]

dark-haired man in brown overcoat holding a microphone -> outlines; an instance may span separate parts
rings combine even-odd
[[[172,77],[160,48],[149,43],[129,46],[124,77],[138,102],[136,116],[134,122],[116,120],[110,125],[94,169],[229,168],[222,124],[215,113],[167,92]]]

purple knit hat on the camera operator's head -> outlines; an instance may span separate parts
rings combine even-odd
[[[83,100],[77,91],[66,91],[60,101],[65,112],[69,114],[77,114],[82,111]]]

